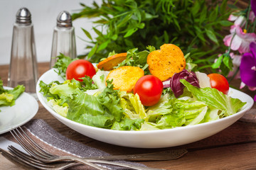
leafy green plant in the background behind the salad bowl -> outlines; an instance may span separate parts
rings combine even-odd
[[[73,19],[98,18],[92,27],[97,38],[82,29],[92,44],[85,55],[92,62],[113,50],[145,50],[148,45],[159,49],[164,43],[173,43],[185,55],[190,52],[198,69],[210,69],[216,58],[212,54],[224,48],[220,43],[221,28],[233,24],[227,21],[232,11],[228,0],[102,0],[101,6],[96,2],[81,6],[79,13],[73,13]]]

